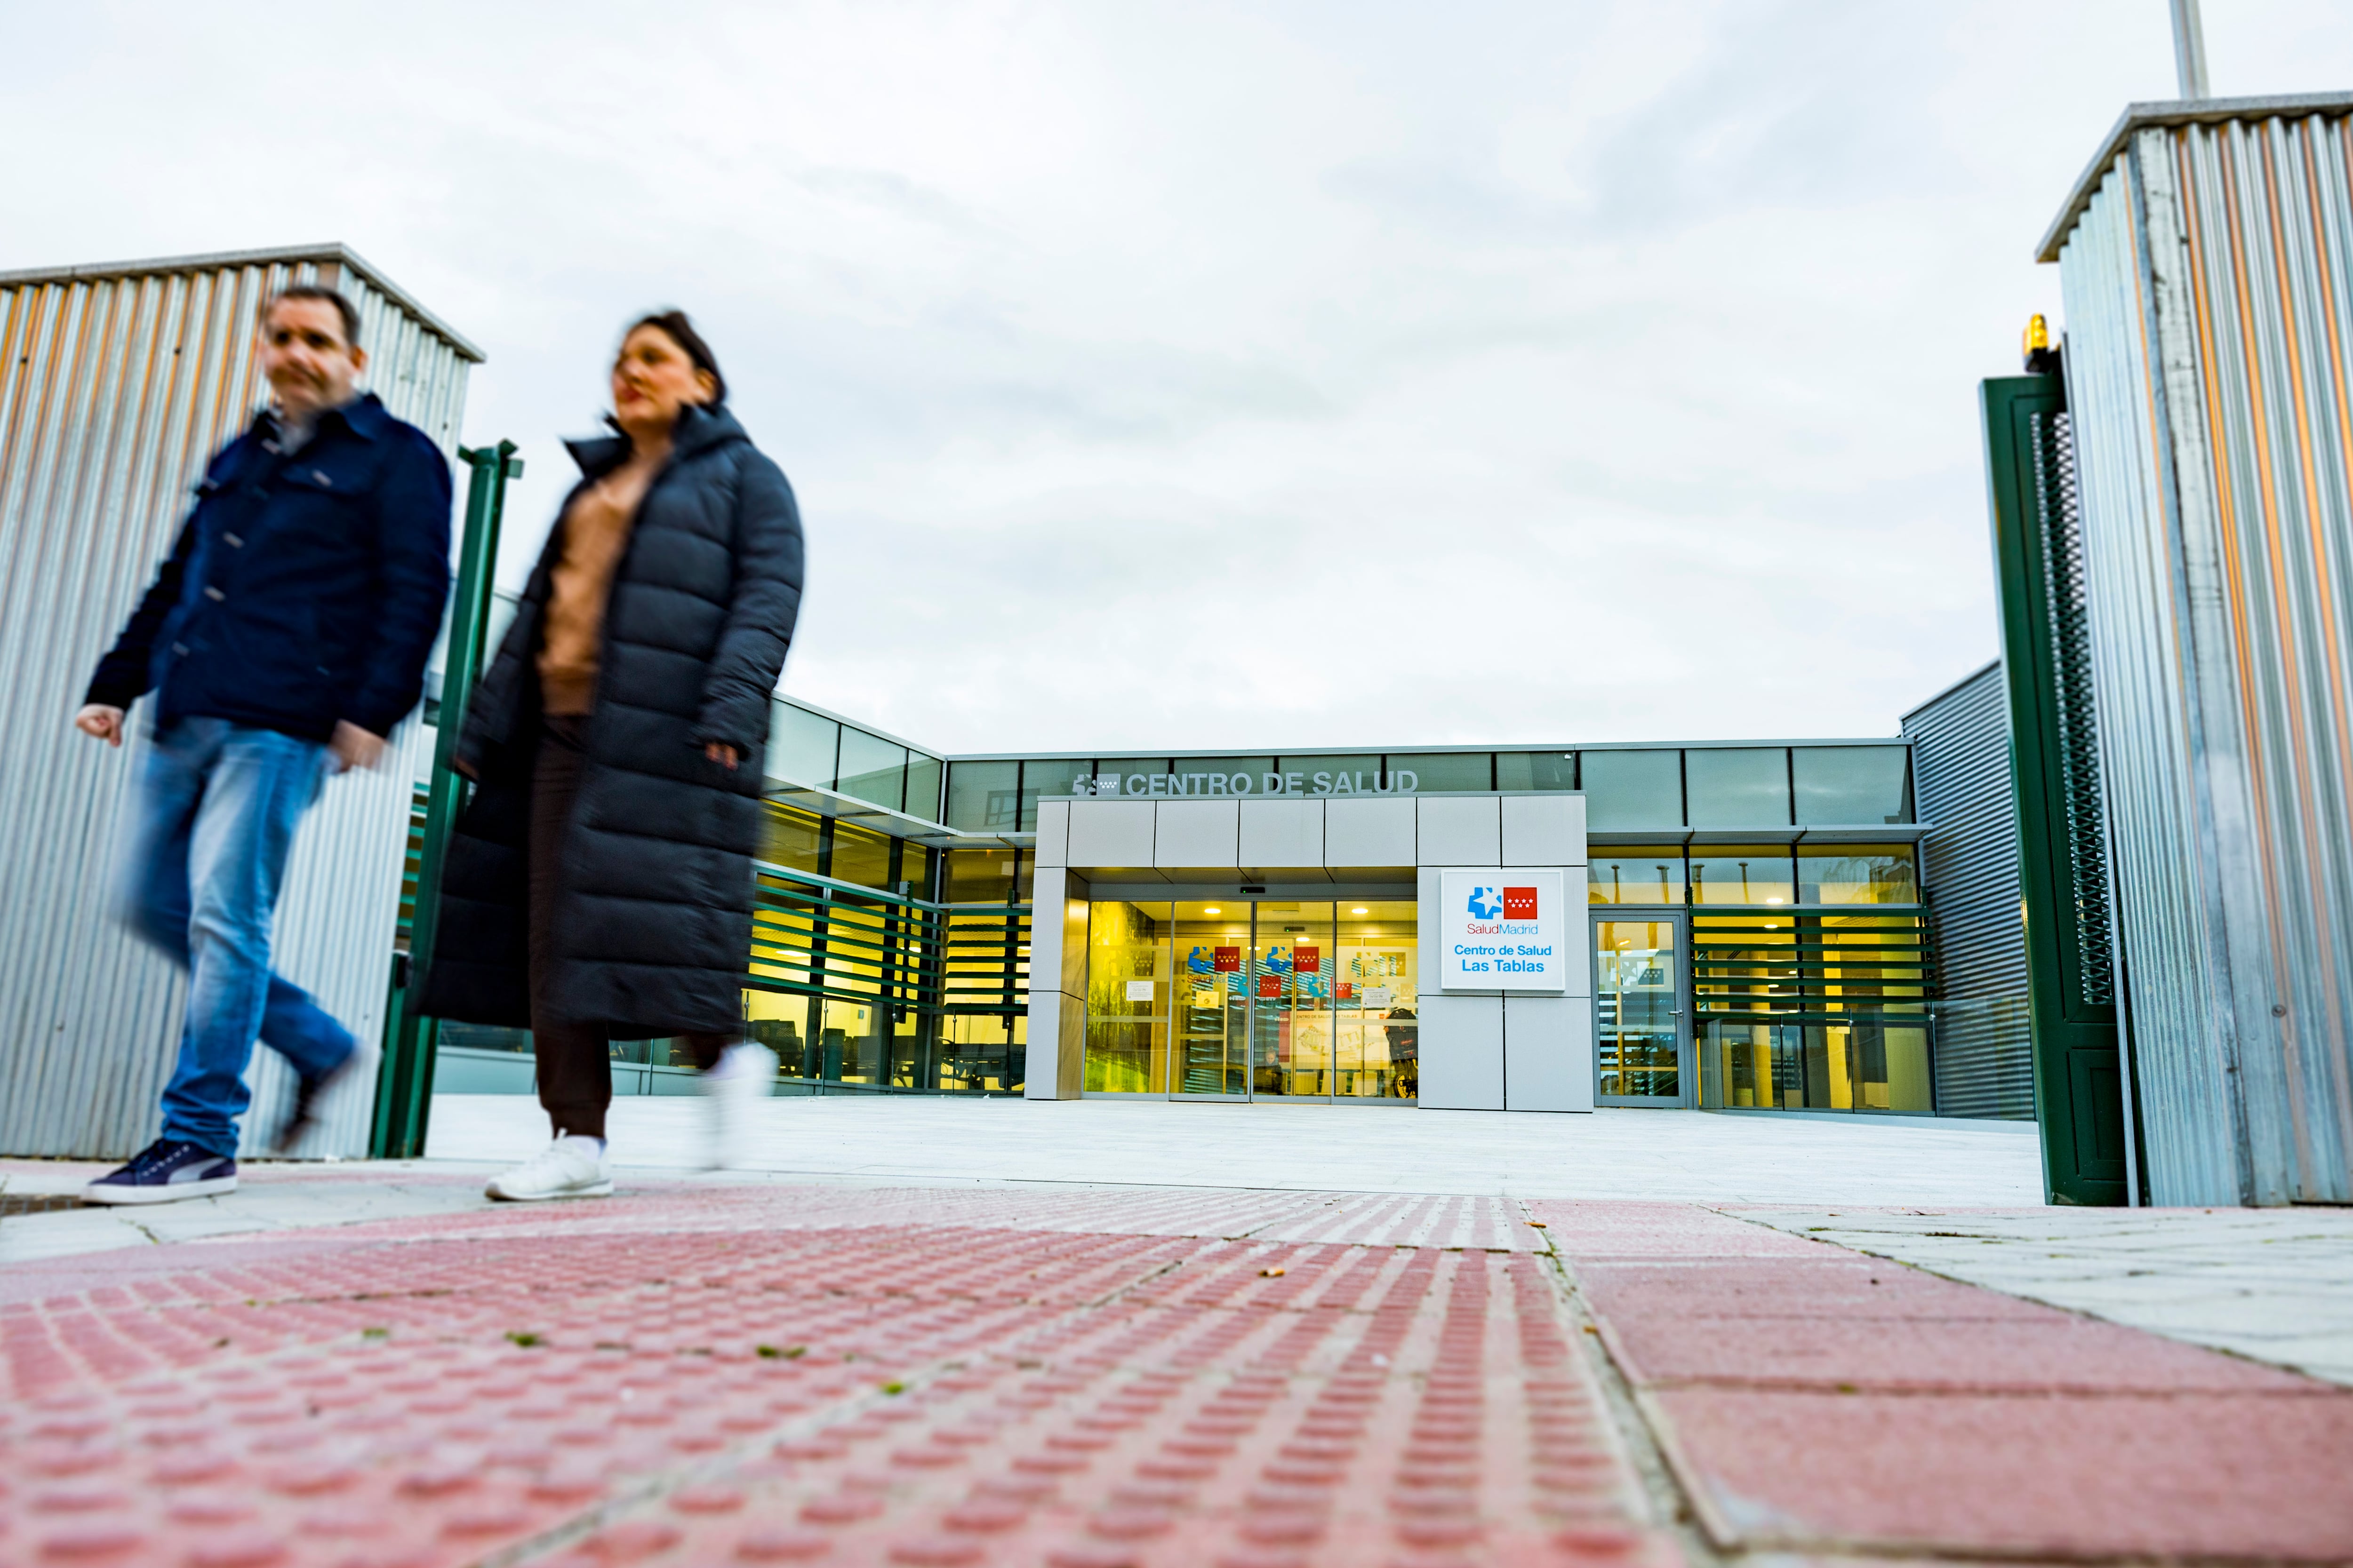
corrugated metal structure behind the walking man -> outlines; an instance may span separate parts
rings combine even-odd
[[[0,1152],[122,1157],[155,1133],[181,983],[111,919],[146,738],[71,724],[96,658],[169,552],[205,461],[261,404],[254,315],[289,282],[360,306],[367,386],[454,451],[482,360],[341,244],[0,273]],[[369,1048],[381,1037],[419,724],[327,785],[278,910],[278,969]],[[256,1107],[285,1091],[256,1053]],[[372,1074],[360,1074],[372,1077]],[[311,1152],[367,1147],[372,1084]],[[247,1119],[247,1143],[256,1124]]]

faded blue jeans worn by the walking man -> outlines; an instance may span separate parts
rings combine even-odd
[[[271,973],[294,827],[325,780],[325,745],[228,719],[179,719],[148,748],[122,905],[132,929],[188,971],[165,1138],[238,1152],[256,1034],[306,1079],[358,1048],[351,1030]]]

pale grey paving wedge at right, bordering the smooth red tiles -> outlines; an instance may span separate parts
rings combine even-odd
[[[2348,1208],[1727,1208],[1948,1279],[2353,1385]]]

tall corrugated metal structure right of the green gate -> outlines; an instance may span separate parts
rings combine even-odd
[[[2353,94],[2137,103],[2042,240],[2146,1192],[2353,1199]]]

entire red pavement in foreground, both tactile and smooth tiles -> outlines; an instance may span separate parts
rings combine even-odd
[[[1687,1204],[638,1182],[0,1284],[7,1568],[2353,1556],[2353,1392]]]

